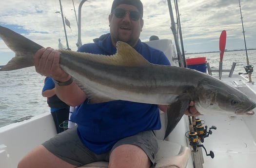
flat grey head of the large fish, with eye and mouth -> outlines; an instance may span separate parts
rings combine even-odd
[[[256,103],[246,94],[214,77],[199,81],[195,106],[205,115],[253,115]]]

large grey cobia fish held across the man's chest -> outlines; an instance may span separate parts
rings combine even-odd
[[[0,37],[16,53],[0,71],[34,66],[33,56],[42,46],[2,26]],[[72,75],[90,103],[126,100],[169,105],[165,137],[191,100],[202,114],[254,114],[256,103],[221,80],[187,68],[151,64],[124,42],[117,43],[113,56],[59,52],[61,68]]]

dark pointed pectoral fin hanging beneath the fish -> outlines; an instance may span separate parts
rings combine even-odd
[[[188,109],[190,97],[186,94],[179,95],[177,100],[170,104],[167,109],[167,127],[165,130],[164,139],[174,130],[177,123]]]

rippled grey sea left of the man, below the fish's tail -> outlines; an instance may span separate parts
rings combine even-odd
[[[44,78],[35,67],[0,72],[0,127],[18,122],[23,116],[50,112],[41,95]]]

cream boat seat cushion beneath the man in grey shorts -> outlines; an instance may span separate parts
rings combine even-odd
[[[170,141],[158,140],[159,150],[155,168],[185,168],[191,150]],[[108,168],[108,162],[94,162],[79,168]],[[153,168],[153,167],[152,167]]]

